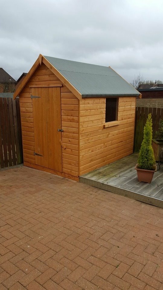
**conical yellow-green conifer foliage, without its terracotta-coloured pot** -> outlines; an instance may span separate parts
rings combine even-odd
[[[155,164],[155,157],[152,148],[152,115],[149,114],[146,124],[144,126],[144,137],[139,151],[138,158],[140,169],[153,169]]]

